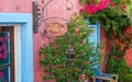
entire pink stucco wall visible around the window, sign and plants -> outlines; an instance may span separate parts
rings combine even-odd
[[[65,13],[65,7],[66,7],[66,1],[65,0],[54,0],[50,5],[48,5],[48,12],[45,17],[50,16],[63,16],[66,19],[69,19],[74,12],[78,12],[78,9],[80,8],[78,0],[70,0],[74,4],[74,8],[72,11],[68,11],[67,14]],[[0,13],[6,12],[6,13],[32,13],[32,0],[0,0]],[[43,30],[44,26],[42,25],[40,30]],[[100,32],[100,43],[106,46],[106,36],[105,32],[101,30]],[[33,70],[34,70],[34,82],[44,82],[42,77],[45,74],[43,73],[43,68],[41,67],[38,60],[41,56],[38,55],[38,50],[42,44],[48,44],[48,39],[46,37],[42,37],[38,33],[33,34]],[[101,49],[101,52],[103,54],[106,50]],[[131,50],[132,51],[132,50]],[[128,56],[125,59],[128,59],[129,63],[132,65],[131,59],[129,59],[130,54],[128,51]],[[103,57],[103,56],[102,56]],[[103,63],[102,63],[103,65]],[[103,66],[102,66],[103,67]],[[47,81],[45,81],[47,82]]]

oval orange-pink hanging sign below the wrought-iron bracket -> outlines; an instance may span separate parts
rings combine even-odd
[[[67,31],[67,26],[58,22],[51,22],[46,25],[47,34],[53,36],[63,35],[66,33],[66,31]]]

